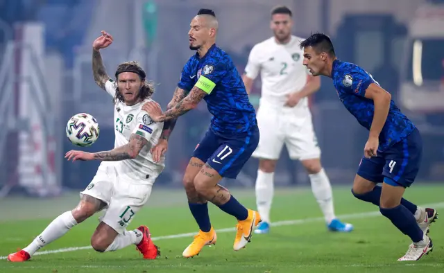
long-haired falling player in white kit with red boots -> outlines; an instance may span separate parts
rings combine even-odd
[[[65,235],[69,229],[103,210],[99,225],[91,238],[97,252],[112,252],[136,245],[144,258],[155,259],[160,253],[151,240],[148,227],[126,230],[135,214],[148,200],[155,179],[164,168],[164,157],[153,162],[150,148],[157,144],[163,123],[154,123],[142,111],[144,103],[153,101],[153,87],[145,80],[146,74],[137,62],[120,64],[114,82],[105,72],[100,49],[112,43],[112,36],[102,32],[93,43],[92,67],[94,80],[114,98],[114,149],[107,152],[71,150],[68,160],[101,160],[96,175],[81,200],[72,211],[58,216],[33,242],[10,254],[12,262],[27,261],[38,249]]]

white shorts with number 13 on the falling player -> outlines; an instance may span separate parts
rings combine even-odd
[[[80,198],[85,194],[105,202],[107,206],[99,221],[122,234],[137,211],[148,201],[155,178],[150,177],[149,184],[146,180],[141,184],[119,177],[114,166],[101,166],[87,188],[80,192]]]

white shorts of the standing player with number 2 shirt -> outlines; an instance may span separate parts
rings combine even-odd
[[[284,143],[293,160],[321,157],[308,108],[296,113],[289,107],[261,105],[257,111],[257,125],[260,138],[253,157],[277,160]]]

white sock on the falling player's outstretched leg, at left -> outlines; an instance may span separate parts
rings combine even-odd
[[[71,211],[67,211],[54,219],[51,224],[44,229],[44,231],[33,240],[31,244],[25,247],[23,250],[28,252],[29,255],[33,256],[38,249],[41,249],[45,245],[48,245],[53,240],[64,236],[71,227],[77,224],[76,219],[72,215]]]

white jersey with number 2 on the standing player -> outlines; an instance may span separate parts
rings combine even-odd
[[[282,107],[288,94],[300,91],[307,83],[309,71],[302,65],[303,49],[299,46],[302,40],[291,35],[290,42],[278,44],[275,37],[271,37],[256,44],[251,50],[245,72],[248,78],[255,79],[260,71],[261,104]],[[297,110],[307,107],[308,100],[305,97],[293,108]]]

